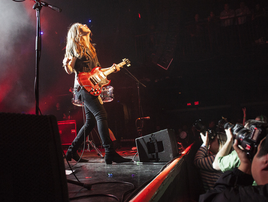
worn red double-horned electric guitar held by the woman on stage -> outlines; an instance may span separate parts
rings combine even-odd
[[[122,63],[117,64],[117,67],[122,67],[127,64],[130,66],[128,59],[123,59]],[[100,67],[95,67],[91,72],[81,72],[77,75],[77,80],[80,86],[89,94],[98,96],[101,94],[102,87],[108,86],[111,80],[107,80],[106,76],[115,71],[115,67],[111,67],[105,72],[100,71]]]

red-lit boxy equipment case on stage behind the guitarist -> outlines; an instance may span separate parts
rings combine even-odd
[[[59,134],[61,144],[72,144],[76,137],[76,122],[70,121],[58,121]]]

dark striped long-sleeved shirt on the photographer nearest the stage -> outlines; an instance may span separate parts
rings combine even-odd
[[[208,151],[206,146],[202,145],[194,157],[194,165],[200,169],[205,191],[213,189],[215,182],[223,174],[223,172],[213,169],[215,156]]]

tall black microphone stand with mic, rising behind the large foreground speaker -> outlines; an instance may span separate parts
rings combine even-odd
[[[40,11],[43,6],[49,7],[55,11],[61,12],[61,9],[55,6],[52,6],[46,2],[33,0],[36,3],[33,6],[33,9],[36,10],[36,18],[37,18],[37,25],[36,25],[36,79],[35,79],[35,101],[36,101],[36,115],[41,114],[39,109],[39,64],[40,64],[40,56],[41,56],[41,23],[40,23]]]

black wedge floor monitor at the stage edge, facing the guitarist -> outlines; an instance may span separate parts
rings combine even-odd
[[[169,162],[178,155],[174,130],[165,129],[136,139],[140,162]]]

